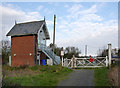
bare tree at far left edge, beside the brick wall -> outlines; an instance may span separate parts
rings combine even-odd
[[[2,40],[2,62],[3,64],[7,64],[9,62],[10,55],[10,41]]]

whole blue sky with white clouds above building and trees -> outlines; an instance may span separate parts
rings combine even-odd
[[[82,55],[85,45],[88,55],[99,49],[118,47],[118,2],[3,2],[0,4],[2,39],[17,23],[43,20],[53,39],[53,21],[56,14],[56,40],[58,47],[78,47]]]

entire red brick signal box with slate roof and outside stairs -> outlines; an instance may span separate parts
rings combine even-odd
[[[11,66],[40,65],[42,59],[60,63],[60,58],[46,46],[50,37],[45,20],[15,24],[7,36],[11,36]]]

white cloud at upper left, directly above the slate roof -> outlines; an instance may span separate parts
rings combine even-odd
[[[34,21],[42,19],[43,17],[38,12],[24,12],[18,9],[13,9],[7,6],[0,6],[0,18],[2,25],[2,37],[6,39],[5,36],[7,32],[13,27],[15,20],[17,23]]]

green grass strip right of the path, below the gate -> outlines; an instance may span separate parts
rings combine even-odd
[[[95,69],[94,82],[95,86],[111,86],[108,79],[108,68]]]

